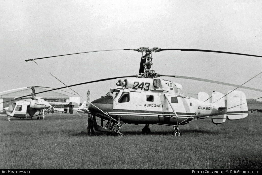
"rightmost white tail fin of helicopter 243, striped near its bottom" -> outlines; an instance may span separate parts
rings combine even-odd
[[[227,92],[227,119],[238,120],[248,116],[247,99],[241,91]]]

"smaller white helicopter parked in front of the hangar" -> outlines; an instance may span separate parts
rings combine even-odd
[[[19,97],[16,99],[21,99],[19,101],[16,101],[12,103],[9,107],[6,109],[6,114],[8,121],[10,121],[10,118],[16,117],[16,118],[32,118],[36,117],[37,119],[43,119],[45,120],[45,116],[49,112],[53,112],[54,110],[57,110],[53,108],[56,105],[63,105],[64,111],[69,113],[76,113],[78,104],[74,102],[70,103],[63,103],[63,102],[47,102],[44,99],[40,97],[36,97],[35,94],[35,87],[27,87],[31,88],[31,97],[30,98],[23,98]],[[50,111],[52,109],[52,111]]]

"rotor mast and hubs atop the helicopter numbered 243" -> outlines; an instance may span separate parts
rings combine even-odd
[[[159,77],[159,74],[152,70],[152,52],[160,52],[160,48],[148,48],[148,47],[140,47],[139,49],[131,49],[138,52],[145,52],[145,55],[141,57],[139,74],[137,74],[138,78],[155,78]]]

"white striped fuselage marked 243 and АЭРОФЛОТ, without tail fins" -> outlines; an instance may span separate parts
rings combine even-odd
[[[151,78],[126,79],[125,87],[119,85],[106,95],[112,97],[112,106],[100,104],[101,108],[107,105],[104,112],[116,119],[120,117],[124,123],[140,124],[176,124],[176,118],[180,123],[185,123],[194,117],[205,118],[217,114],[220,106],[182,96],[178,93],[182,89],[178,83],[157,81]],[[100,102],[94,103],[99,106]]]

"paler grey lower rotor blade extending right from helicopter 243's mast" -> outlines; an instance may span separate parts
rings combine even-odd
[[[249,88],[249,87],[246,87],[246,86],[241,86],[241,85],[236,85],[236,84],[231,84],[231,83],[218,82],[218,81],[207,80],[207,79],[202,79],[202,78],[184,77],[184,76],[176,76],[176,75],[160,75],[160,77],[174,77],[174,78],[182,78],[182,79],[189,79],[189,80],[197,80],[197,81],[202,81],[202,82],[216,83],[216,84],[234,86],[234,87],[238,87],[238,88],[262,92],[261,89]]]

